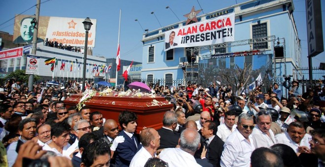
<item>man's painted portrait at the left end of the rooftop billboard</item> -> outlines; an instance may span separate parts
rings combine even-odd
[[[20,36],[18,36],[13,43],[15,44],[32,44],[32,36],[34,27],[32,26],[32,17],[25,17],[20,21]],[[43,39],[37,38],[38,42],[44,42]]]

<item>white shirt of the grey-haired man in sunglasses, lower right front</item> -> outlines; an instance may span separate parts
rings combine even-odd
[[[251,155],[255,150],[253,139],[250,142],[236,129],[231,133],[224,145],[221,155],[221,167],[250,167]]]

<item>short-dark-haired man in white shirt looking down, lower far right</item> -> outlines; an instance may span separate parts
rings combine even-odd
[[[309,140],[311,136],[306,134],[305,127],[300,122],[289,124],[288,132],[275,136],[277,143],[289,145],[295,153],[310,153]]]

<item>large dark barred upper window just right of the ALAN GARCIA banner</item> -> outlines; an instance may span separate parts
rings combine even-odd
[[[252,37],[261,38],[267,36],[267,23],[261,23],[252,26]],[[253,44],[253,49],[267,49],[267,42]]]

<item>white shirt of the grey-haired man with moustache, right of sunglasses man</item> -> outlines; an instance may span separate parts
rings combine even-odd
[[[271,129],[268,130],[268,133],[270,134],[271,138],[266,135],[266,133],[263,133],[259,126],[256,125],[255,128],[253,129],[253,132],[251,134],[252,139],[253,139],[253,144],[255,148],[260,148],[260,147],[267,147],[270,148],[272,145],[276,144],[274,134]]]

